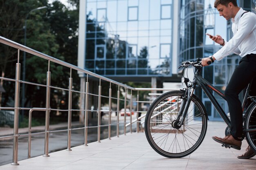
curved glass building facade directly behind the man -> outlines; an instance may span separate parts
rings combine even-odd
[[[231,21],[220,17],[213,7],[215,0],[180,0],[180,42],[179,62],[209,57],[216,53],[221,46],[213,42],[205,33],[221,35],[225,40],[232,38]],[[255,12],[255,0],[238,0],[238,6],[247,11]],[[240,61],[240,56],[229,55],[224,59],[204,67],[203,77],[224,93],[227,83]],[[209,119],[221,119],[208,97],[197,91],[206,106]],[[228,113],[227,102],[213,93],[216,99]]]

